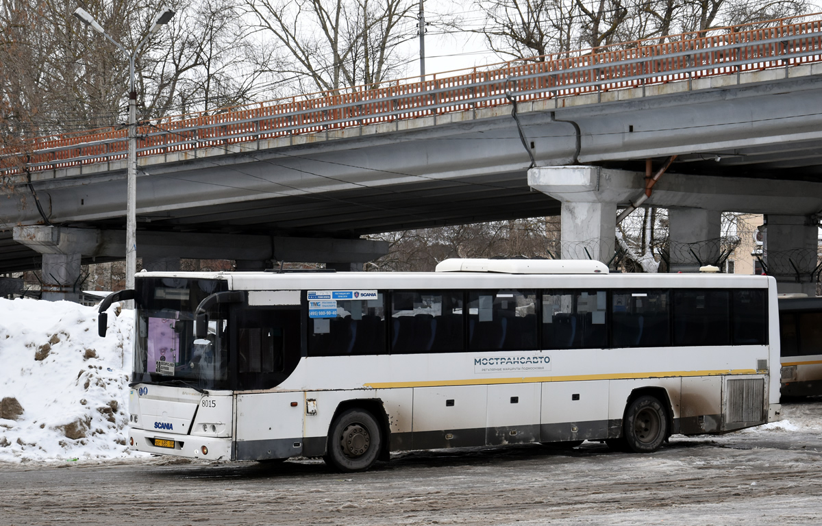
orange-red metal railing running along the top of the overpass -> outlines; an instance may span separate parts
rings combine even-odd
[[[399,119],[739,75],[822,61],[820,14],[613,44],[602,48],[404,79],[268,103],[142,122],[137,155],[162,155],[279,136],[331,132]],[[445,76],[443,76],[445,75]],[[21,150],[24,150],[21,152]],[[195,154],[196,155],[196,154]],[[6,174],[104,163],[127,157],[127,130],[38,137],[2,152]]]

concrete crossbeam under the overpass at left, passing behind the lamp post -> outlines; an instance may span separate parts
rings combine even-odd
[[[122,230],[25,226],[14,228],[14,240],[40,254],[125,257]],[[359,263],[388,253],[388,242],[370,239],[283,238],[253,234],[137,232],[137,256],[144,261],[224,259]]]

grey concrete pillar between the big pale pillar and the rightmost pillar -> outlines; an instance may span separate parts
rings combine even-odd
[[[719,210],[668,209],[669,270],[699,272],[702,265],[718,265],[721,221]]]

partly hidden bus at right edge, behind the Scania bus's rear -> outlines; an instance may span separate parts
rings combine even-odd
[[[822,298],[779,295],[783,396],[822,394]]]

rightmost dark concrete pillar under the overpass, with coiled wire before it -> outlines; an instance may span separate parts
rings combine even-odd
[[[802,215],[766,215],[764,262],[776,278],[779,293],[816,295],[813,271],[817,265],[819,227]]]

